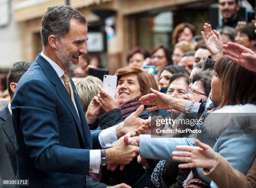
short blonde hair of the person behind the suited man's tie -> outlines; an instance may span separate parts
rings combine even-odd
[[[73,79],[77,89],[77,94],[81,100],[84,113],[92,100],[99,93],[98,85],[102,86],[103,82],[95,76],[86,76],[84,78]]]

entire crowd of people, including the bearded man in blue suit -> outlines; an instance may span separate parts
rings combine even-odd
[[[238,0],[219,8],[217,30],[180,23],[172,48],[131,49],[115,96],[89,75],[100,64],[86,55],[84,15],[48,8],[42,52],[5,81],[0,178],[31,188],[255,188],[256,26],[238,16]]]

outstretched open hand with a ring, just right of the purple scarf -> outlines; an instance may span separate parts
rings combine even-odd
[[[147,111],[172,109],[172,100],[174,99],[173,97],[152,88],[150,91],[150,94],[144,95],[139,99],[139,102],[141,102],[143,105],[154,105],[154,107],[147,108]]]

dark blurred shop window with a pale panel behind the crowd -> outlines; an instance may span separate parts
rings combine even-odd
[[[154,11],[133,15],[136,20],[136,46],[142,46],[150,51],[159,45],[172,48],[172,32],[175,26],[182,22],[195,25],[197,33],[200,34],[204,23],[210,23],[209,8],[209,4],[194,7],[190,4],[171,7],[158,13]]]

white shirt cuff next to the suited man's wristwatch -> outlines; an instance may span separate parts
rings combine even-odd
[[[100,150],[90,150],[89,172],[99,173],[100,171]]]

